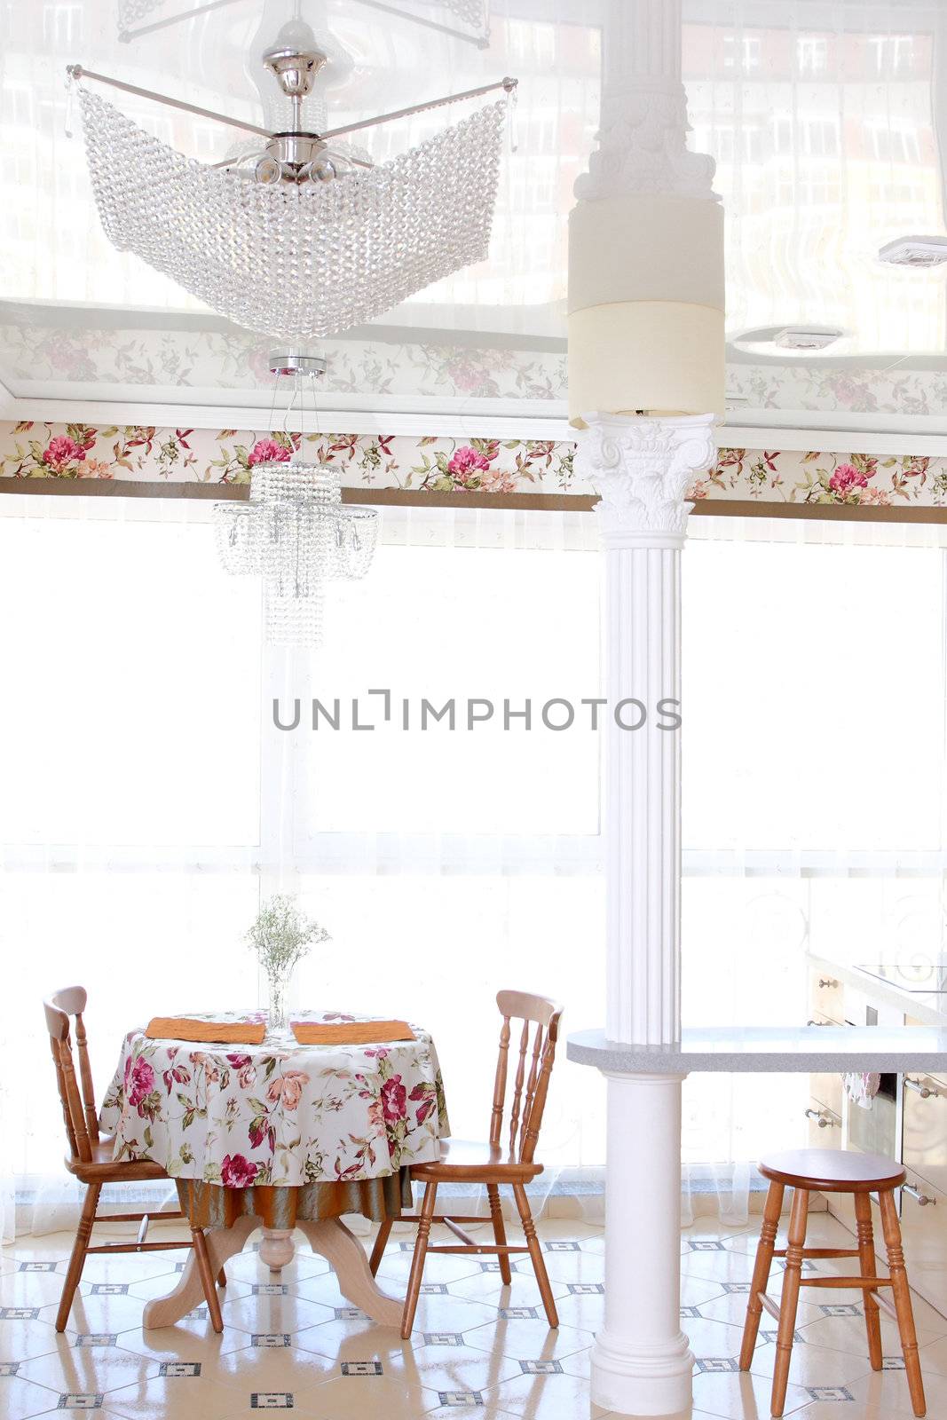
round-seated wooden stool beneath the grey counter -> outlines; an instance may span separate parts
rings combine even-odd
[[[792,1355],[792,1333],[795,1331],[797,1304],[801,1287],[860,1287],[865,1294],[865,1326],[867,1329],[867,1353],[872,1370],[882,1369],[882,1323],[879,1306],[883,1306],[897,1322],[904,1353],[904,1370],[916,1416],[924,1414],[924,1383],[917,1358],[917,1336],[912,1311],[904,1254],[902,1251],[902,1230],[894,1206],[894,1189],[904,1181],[904,1170],[882,1154],[849,1153],[838,1149],[792,1149],[787,1153],[770,1154],[760,1162],[760,1173],[770,1180],[770,1193],[762,1214],[760,1247],[752,1268],[747,1322],[743,1329],[740,1369],[750,1370],[752,1352],[760,1331],[762,1308],[779,1323],[777,1332],[777,1365],[772,1373],[772,1414],[781,1416],[787,1397],[789,1358]],[[788,1247],[777,1248],[777,1228],[782,1208],[782,1194],[794,1189],[792,1211],[789,1214]],[[858,1247],[805,1247],[805,1230],[809,1211],[809,1193],[850,1193],[855,1196],[855,1217],[858,1221]],[[875,1258],[875,1234],[872,1230],[872,1200],[877,1193],[882,1210],[882,1228],[890,1277],[877,1277]],[[767,1279],[774,1257],[787,1260],[782,1278],[781,1305],[767,1296]],[[804,1277],[802,1260],[806,1257],[856,1257],[858,1277]],[[879,1287],[890,1287],[894,1305],[879,1294]]]

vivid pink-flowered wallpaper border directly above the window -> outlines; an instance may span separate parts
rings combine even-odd
[[[571,442],[0,423],[4,479],[240,484],[254,464],[295,452],[336,464],[345,487],[365,491],[595,494],[575,473]],[[716,467],[694,480],[689,496],[947,508],[947,459],[720,449]]]

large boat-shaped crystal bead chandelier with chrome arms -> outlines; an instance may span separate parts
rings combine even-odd
[[[308,43],[301,43],[308,36]],[[80,84],[95,203],[108,239],[251,331],[335,335],[487,256],[503,126],[515,80],[415,104],[327,132],[302,102],[328,55],[308,26],[285,26],[263,62],[291,99],[285,132],[227,118],[74,64],[98,80],[263,139],[206,165],[152,138]],[[505,97],[390,162],[373,165],[346,135],[497,89]]]

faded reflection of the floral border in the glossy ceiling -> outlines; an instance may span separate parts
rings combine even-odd
[[[565,334],[565,332],[564,332]],[[68,382],[74,393],[94,388],[105,398],[121,388],[270,390],[271,341],[237,329],[155,329],[135,324],[77,327],[4,315],[0,302],[0,373],[10,386],[35,389]],[[565,342],[562,342],[565,344]],[[551,412],[565,408],[568,359],[562,349],[514,348],[488,339],[409,339],[379,332],[373,339],[334,339],[321,345],[327,361],[321,396],[376,395],[386,399],[534,400]],[[730,417],[747,410],[795,409],[806,413],[872,413],[936,419],[947,403],[947,362],[927,366],[890,358],[727,361]]]

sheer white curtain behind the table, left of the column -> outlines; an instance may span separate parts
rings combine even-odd
[[[598,693],[592,538],[581,514],[386,511],[371,578],[329,594],[325,649],[275,652],[258,584],[217,568],[204,507],[0,503],[16,608],[0,626],[0,1081],[20,1227],[75,1204],[43,995],[88,987],[101,1091],[150,1014],[257,1003],[241,937],[277,889],[332,934],[298,1003],[430,1025],[459,1135],[487,1126],[500,985],[601,1020],[598,743],[540,720],[552,697]],[[338,731],[310,728],[312,696],[339,700]],[[301,727],[278,730],[274,699],[297,697]],[[402,700],[416,726],[423,697],[453,699],[456,728],[402,730]],[[352,730],[352,699],[376,730]],[[473,730],[469,699],[496,707]],[[504,700],[527,699],[532,727],[505,731]],[[562,1051],[549,1183],[601,1164],[601,1093]]]

